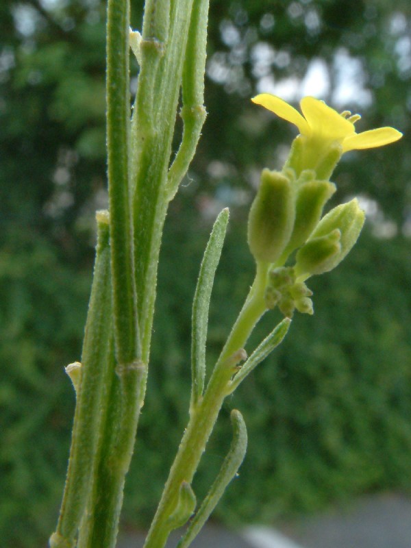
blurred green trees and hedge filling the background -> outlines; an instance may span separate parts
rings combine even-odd
[[[142,1],[133,8],[139,27]],[[75,399],[63,367],[79,360],[94,212],[106,200],[104,16],[99,0],[0,3],[5,548],[45,545],[64,482]],[[405,136],[338,166],[336,201],[362,195],[371,219],[351,256],[313,280],[314,318],[296,317],[286,343],[227,401],[195,488],[203,492],[219,468],[236,407],[249,426],[249,451],[216,511],[225,522],[273,521],[358,493],[410,490],[410,3],[212,0],[209,116],[166,223],[127,523],[147,525],[186,422],[190,302],[212,220],[227,205],[232,221],[212,301],[210,360],[251,283],[245,222],[253,184],[263,166],[279,164],[293,132],[249,97],[267,79],[301,79],[321,60],[329,71],[324,98],[332,101],[344,55],[358,63],[353,82],[372,99],[358,107],[361,129],[394,125]],[[267,316],[265,329],[274,321]]]

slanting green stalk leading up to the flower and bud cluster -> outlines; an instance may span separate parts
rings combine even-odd
[[[162,548],[166,543],[169,536],[167,521],[175,510],[179,488],[182,482],[191,483],[192,481],[223,400],[227,395],[227,386],[241,356],[238,353],[266,310],[264,290],[268,270],[269,264],[258,264],[256,279],[216,363],[206,393],[190,417],[182,443],[171,467],[169,479],[164,487],[158,510],[151,524],[145,548]]]

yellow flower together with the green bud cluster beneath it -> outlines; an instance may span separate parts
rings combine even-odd
[[[267,308],[285,316],[294,310],[312,314],[308,277],[334,269],[351,250],[364,224],[358,201],[330,210],[323,208],[336,190],[329,181],[343,153],[387,145],[401,138],[391,127],[357,134],[360,116],[338,114],[323,101],[305,97],[303,116],[278,97],[253,99],[300,130],[281,172],[264,169],[249,214],[248,242],[258,264],[268,266]],[[295,263],[290,264],[290,257]]]

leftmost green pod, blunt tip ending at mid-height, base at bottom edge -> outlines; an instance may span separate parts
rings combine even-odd
[[[112,332],[109,227],[106,221],[98,225],[97,256],[82,351],[82,379],[77,394],[69,469],[57,530],[50,538],[51,548],[75,546],[75,536],[92,488]]]

